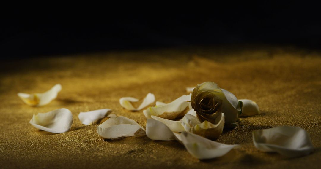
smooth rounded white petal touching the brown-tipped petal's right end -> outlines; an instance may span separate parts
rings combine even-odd
[[[164,123],[152,118],[147,119],[146,135],[152,140],[176,140],[173,132]]]

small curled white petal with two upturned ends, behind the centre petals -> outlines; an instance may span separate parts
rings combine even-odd
[[[123,108],[125,108],[127,110],[131,110],[131,111],[139,111],[139,110],[145,108],[146,106],[150,105],[151,103],[153,103],[155,101],[155,95],[152,93],[148,93],[146,95],[146,97],[144,98],[142,104],[139,105],[139,107],[137,109],[134,108],[132,103],[130,103],[130,102],[136,102],[136,101],[138,101],[138,99],[133,98],[133,97],[122,97],[119,99],[119,103]]]

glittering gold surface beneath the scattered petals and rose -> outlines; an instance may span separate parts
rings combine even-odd
[[[320,168],[321,57],[294,48],[189,48],[109,52],[3,62],[0,86],[0,168]],[[112,109],[145,127],[142,111],[129,112],[119,98],[154,93],[169,102],[185,88],[213,81],[238,99],[257,102],[261,114],[242,118],[217,141],[240,144],[223,157],[198,160],[177,141],[147,136],[103,140],[96,125],[82,125],[80,111]],[[63,86],[56,100],[30,107],[18,92],[44,92]],[[66,133],[39,131],[32,115],[67,108],[74,122]],[[252,131],[279,125],[307,130],[316,150],[286,158],[257,150]]]

